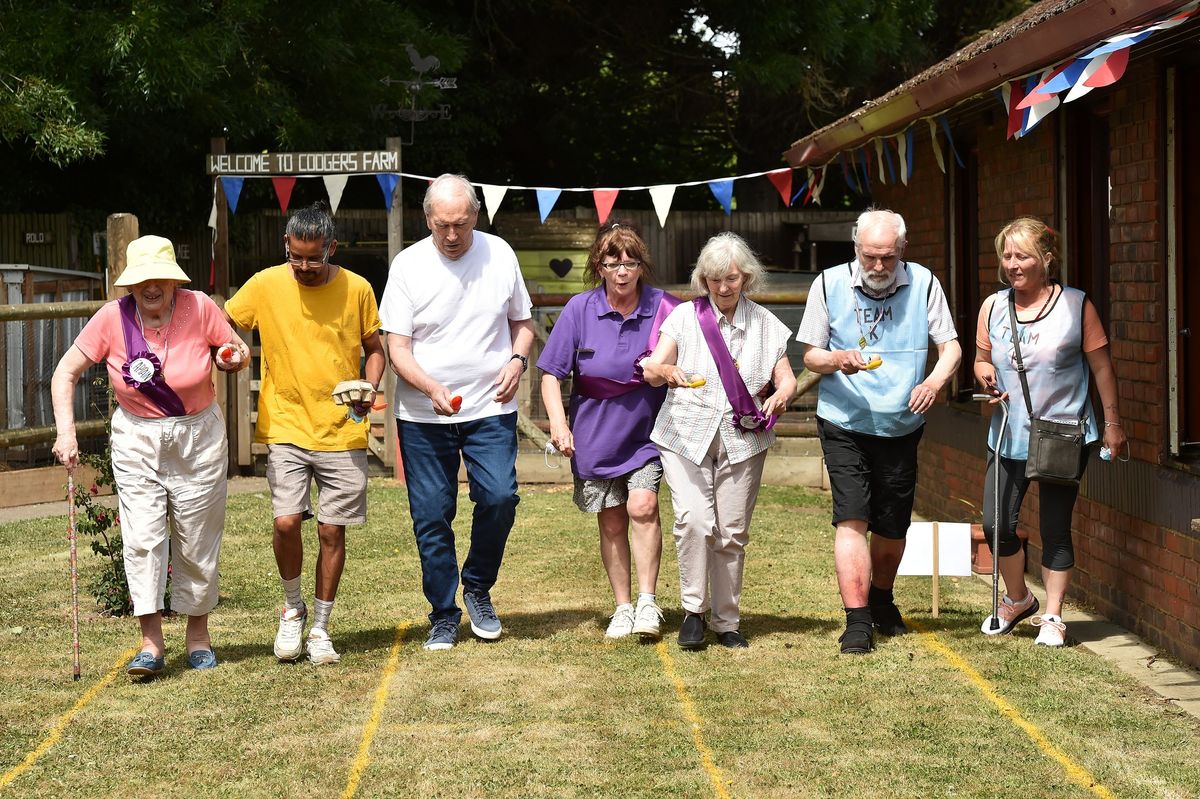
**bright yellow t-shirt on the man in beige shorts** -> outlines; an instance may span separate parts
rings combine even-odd
[[[301,286],[287,264],[251,277],[226,302],[239,328],[258,329],[263,383],[254,440],[334,452],[367,445],[367,425],[334,402],[334,386],[361,374],[362,340],[379,330],[371,284],[338,269]]]

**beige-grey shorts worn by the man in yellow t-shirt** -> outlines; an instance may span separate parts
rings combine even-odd
[[[308,498],[317,480],[317,521],[324,524],[362,524],[367,521],[367,451],[324,452],[292,444],[266,445],[266,483],[271,487],[275,517],[312,518]]]

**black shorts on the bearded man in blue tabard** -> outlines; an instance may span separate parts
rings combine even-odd
[[[844,429],[817,417],[817,434],[833,491],[833,524],[866,519],[884,539],[902,539],[912,523],[917,491],[917,445],[922,425],[907,435],[886,438]]]

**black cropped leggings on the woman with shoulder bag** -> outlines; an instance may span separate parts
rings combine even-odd
[[[1025,461],[1000,458],[1000,555],[1007,558],[1021,551],[1016,537],[1016,519],[1021,513],[1021,501],[1030,488],[1025,479]],[[983,487],[983,530],[991,549],[995,529],[996,453],[988,453],[988,474]],[[1075,548],[1070,543],[1070,513],[1075,509],[1079,486],[1060,486],[1043,482],[1039,494],[1039,529],[1042,531],[1042,565],[1055,571],[1066,571],[1075,565]]]

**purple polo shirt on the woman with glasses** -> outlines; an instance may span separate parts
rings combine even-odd
[[[554,323],[538,368],[559,380],[572,372],[630,380],[634,359],[647,349],[661,299],[662,289],[643,284],[637,310],[624,319],[608,305],[604,286],[576,294]],[[571,471],[584,480],[611,480],[656,461],[659,449],[650,443],[650,431],[666,396],[666,386],[648,385],[612,400],[572,392],[568,416],[575,437]]]

